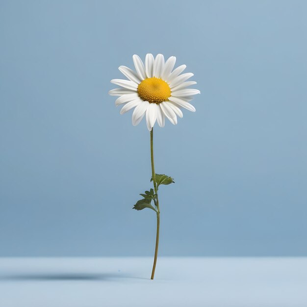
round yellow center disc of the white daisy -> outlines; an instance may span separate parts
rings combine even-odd
[[[160,78],[144,79],[138,86],[137,92],[139,96],[150,103],[160,103],[168,101],[171,96],[169,85]]]

